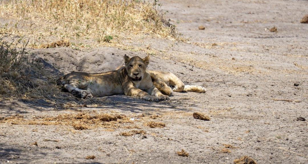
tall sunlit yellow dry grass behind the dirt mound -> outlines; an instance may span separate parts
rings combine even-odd
[[[62,39],[102,46],[148,34],[179,40],[159,6],[134,0],[1,1],[0,16],[10,20],[2,24],[2,30],[30,38],[36,48]]]

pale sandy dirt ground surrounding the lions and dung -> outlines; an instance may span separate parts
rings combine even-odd
[[[101,98],[104,106],[67,109],[44,101],[4,99],[0,116],[23,117],[25,122],[79,112],[124,114],[127,119],[87,130],[74,129],[74,122],[2,122],[0,162],[216,164],[233,163],[247,155],[257,163],[307,163],[308,24],[300,20],[308,14],[308,1],[160,3],[189,42],[144,36],[144,40],[128,41],[127,45],[153,50],[156,53],[149,69],[170,71],[185,84],[205,86],[206,93],[175,93],[160,102],[115,95]],[[198,29],[201,25],[205,30]],[[277,32],[270,32],[274,26]],[[146,56],[110,47],[31,51],[63,73],[113,70],[123,64],[124,54]],[[205,113],[211,120],[195,119],[193,112]],[[149,122],[162,122],[165,127],[150,128]],[[135,135],[120,135],[122,132]],[[188,157],[177,154],[182,149]],[[86,159],[91,155],[95,158]]]

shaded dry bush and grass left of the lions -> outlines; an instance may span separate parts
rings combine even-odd
[[[26,50],[22,38],[0,33],[0,99],[17,98],[57,108],[105,104],[103,99],[79,99],[61,91],[56,80],[61,74]]]

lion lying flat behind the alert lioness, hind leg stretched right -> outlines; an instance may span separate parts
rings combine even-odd
[[[124,66],[118,66],[116,70]],[[148,70],[153,85],[164,95],[173,96],[173,92],[198,92],[205,93],[203,86],[184,85],[184,83],[171,72]]]

